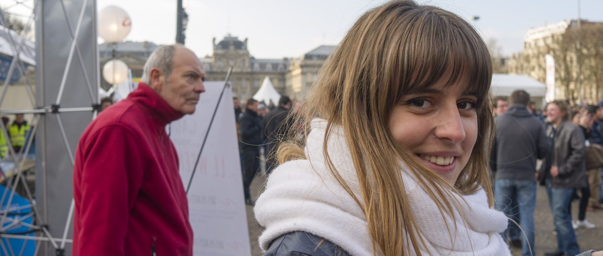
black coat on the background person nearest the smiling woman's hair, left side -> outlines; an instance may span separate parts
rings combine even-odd
[[[264,132],[262,132],[262,138],[266,140],[268,144],[268,156],[270,160],[268,160],[268,168],[272,169],[274,165],[276,165],[276,161],[274,161],[274,154],[276,153],[278,142],[285,138],[284,136],[287,133],[287,129],[293,126],[293,119],[290,118],[290,111],[283,106],[279,106],[273,111],[268,112],[262,125],[264,127]]]

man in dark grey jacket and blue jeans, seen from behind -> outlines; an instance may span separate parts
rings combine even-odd
[[[490,156],[490,168],[496,173],[494,200],[498,210],[519,224],[523,256],[536,255],[536,159],[545,157],[551,149],[545,126],[528,112],[528,103],[529,94],[525,91],[511,93],[511,107],[494,118],[496,139]],[[519,210],[519,216],[513,216],[512,210]]]

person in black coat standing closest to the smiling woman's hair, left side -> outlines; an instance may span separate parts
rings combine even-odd
[[[279,141],[283,139],[288,127],[292,126],[292,118],[289,116],[291,111],[291,99],[287,96],[280,97],[279,106],[273,111],[265,115],[262,132],[262,138],[268,144],[268,152],[266,154],[266,172],[276,167],[276,150],[278,149]]]

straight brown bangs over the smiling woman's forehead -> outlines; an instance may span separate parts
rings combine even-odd
[[[416,29],[405,29],[400,43],[398,100],[440,81],[446,86],[466,83],[467,91],[486,99],[490,90],[491,60],[484,41],[466,22],[453,23],[428,13]],[[414,60],[414,61],[409,61]]]

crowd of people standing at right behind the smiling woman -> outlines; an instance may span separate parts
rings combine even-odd
[[[557,232],[557,250],[545,255],[579,253],[574,230],[595,228],[586,219],[588,211],[603,209],[601,156],[589,154],[603,144],[603,100],[598,106],[576,105],[554,100],[537,111],[525,91],[514,91],[510,102],[493,99],[495,139],[490,156],[494,198],[505,212],[510,227],[505,238],[534,252],[534,208],[537,184],[546,186]],[[537,159],[541,159],[537,169]],[[591,166],[587,168],[587,166]],[[579,198],[577,218],[570,202]]]

